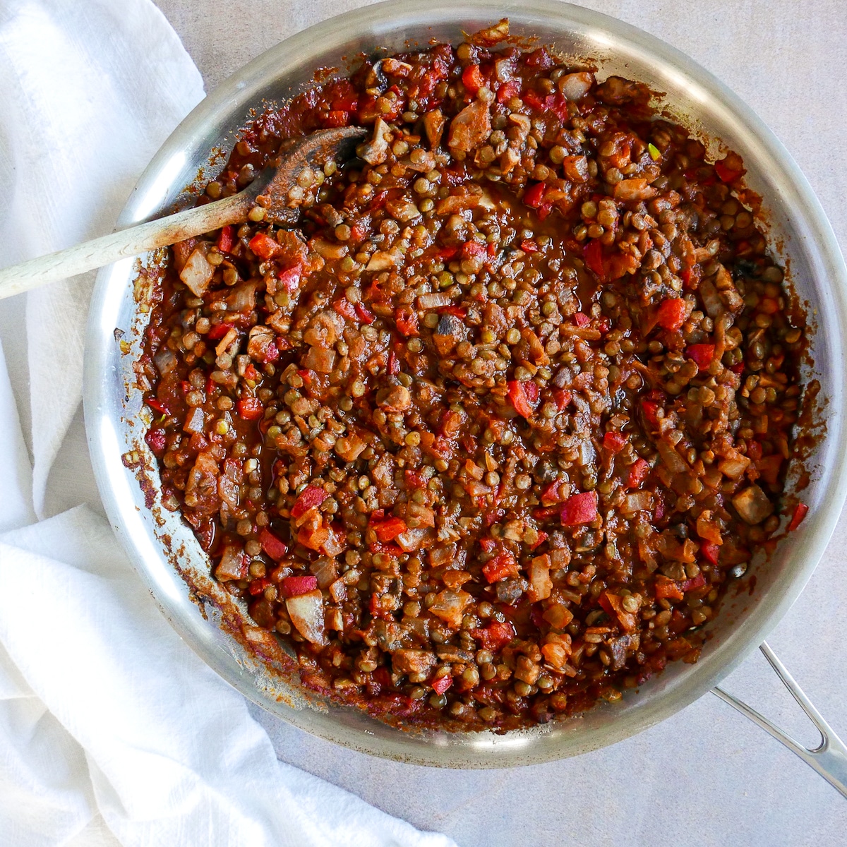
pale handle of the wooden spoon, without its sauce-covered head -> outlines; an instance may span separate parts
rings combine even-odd
[[[138,224],[128,230],[118,230],[66,250],[3,268],[0,270],[0,300],[38,288],[47,282],[64,280],[92,268],[102,268],[119,259],[138,256],[146,250],[175,244],[192,235],[218,230],[226,224],[241,223],[246,220],[255,202],[248,192],[242,191],[205,206],[186,209],[185,212],[167,218]]]

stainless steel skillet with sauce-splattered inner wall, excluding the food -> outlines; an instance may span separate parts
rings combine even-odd
[[[440,767],[510,767],[573,756],[638,733],[713,689],[761,644],[800,594],[832,534],[847,486],[841,446],[847,271],[817,199],[782,145],[732,92],[672,47],[604,15],[553,0],[392,0],[326,21],[264,53],[203,101],[150,163],[119,225],[190,202],[185,186],[196,179],[198,169],[209,179],[223,165],[216,150],[232,146],[250,110],[302,90],[315,69],[343,68],[346,58],[357,53],[396,51],[408,42],[457,42],[462,30],[473,31],[504,16],[510,18],[513,33],[537,36],[574,60],[590,58],[601,75],[628,76],[666,92],[663,102],[678,120],[739,152],[748,169],[748,185],[764,198],[772,242],[783,245],[800,299],[817,320],[811,340],[815,364],[809,376],[820,380],[827,401],[820,412],[826,436],[811,457],[811,483],[803,492],[811,511],[770,562],[750,567],[739,579],[738,589],[710,624],[711,638],[700,662],[673,663],[637,693],[584,717],[502,737],[405,732],[359,711],[306,698],[296,680],[285,678],[285,656],[274,639],[253,627],[230,595],[208,580],[206,556],[191,530],[162,503],[154,462],[142,438],[141,392],[132,369],[147,323],[148,281],[157,273],[156,257],[142,258],[141,275],[137,261],[130,259],[102,270],[87,339],[86,429],[102,499],[119,538],[174,628],[230,684],[297,727],[376,756]],[[262,655],[270,661],[258,657]],[[790,678],[783,679],[799,691]],[[750,714],[743,704],[722,696]],[[799,693],[795,696],[802,702]],[[818,725],[827,740],[817,751],[800,748],[778,729],[766,728],[812,767],[828,772],[827,778],[845,793],[844,746],[826,724]]]

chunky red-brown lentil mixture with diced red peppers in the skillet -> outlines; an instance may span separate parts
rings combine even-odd
[[[368,138],[301,175],[296,229],[257,207],[174,246],[141,362],[215,577],[307,688],[407,724],[547,722],[695,662],[799,414],[740,158],[506,36],[256,119],[208,198],[286,137]]]

